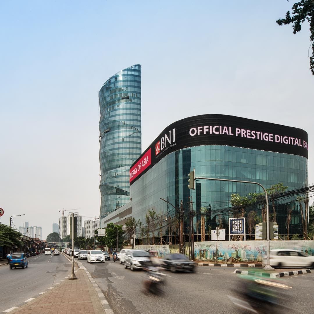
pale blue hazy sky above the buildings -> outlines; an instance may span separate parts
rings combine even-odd
[[[98,91],[142,65],[142,151],[172,122],[229,114],[299,127],[314,183],[309,27],[295,1],[1,1],[0,218],[99,217]],[[83,220],[89,219],[83,217]]]

